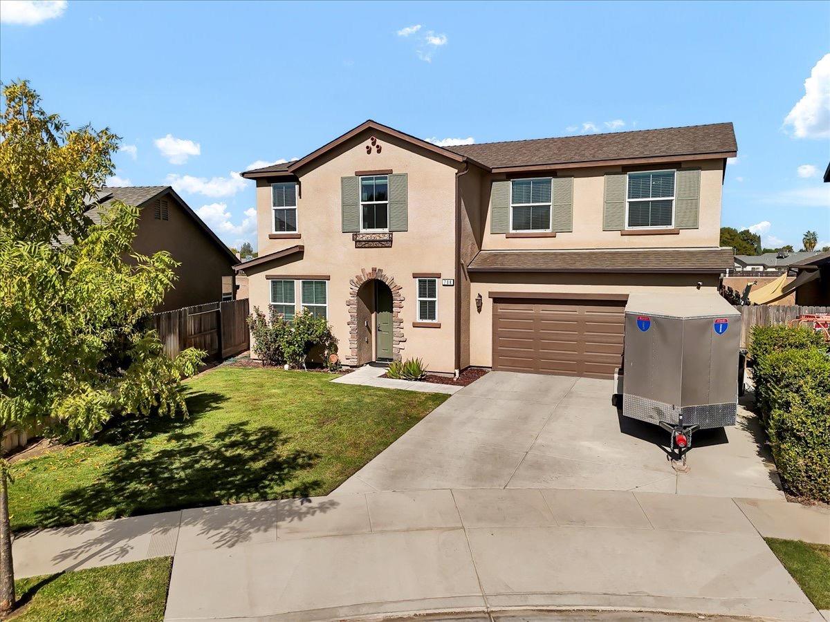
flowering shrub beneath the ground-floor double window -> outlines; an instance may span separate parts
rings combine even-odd
[[[337,352],[337,339],[329,323],[305,309],[286,320],[273,309],[271,318],[266,319],[265,313],[254,307],[248,316],[248,327],[253,341],[251,350],[267,365],[287,363],[290,367],[305,368],[312,351],[319,353],[326,367],[333,369],[339,365],[337,358],[330,356]]]

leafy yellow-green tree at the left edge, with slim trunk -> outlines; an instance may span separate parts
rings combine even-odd
[[[145,322],[176,262],[130,255],[135,207],[116,202],[100,225],[84,215],[117,144],[47,114],[25,81],[2,88],[0,437],[17,427],[82,439],[118,413],[186,414],[180,381],[203,352],[169,360]],[[9,476],[0,456],[0,617],[15,603]]]

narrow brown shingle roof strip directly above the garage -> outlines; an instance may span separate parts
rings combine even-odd
[[[732,249],[482,250],[471,272],[715,272],[731,268]]]

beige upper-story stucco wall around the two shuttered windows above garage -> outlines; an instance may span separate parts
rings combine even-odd
[[[492,211],[487,210],[483,231],[484,249],[575,249],[575,248],[661,248],[717,246],[720,243],[720,193],[723,160],[700,160],[682,163],[682,167],[701,168],[701,207],[698,229],[683,229],[667,236],[623,236],[619,231],[603,231],[603,192],[605,173],[619,173],[621,167],[572,168],[559,171],[574,177],[574,231],[559,232],[556,237],[506,238],[490,232]],[[654,170],[659,170],[655,165]],[[533,177],[529,175],[528,177]],[[540,173],[538,177],[544,177]],[[490,202],[490,185],[501,176],[482,180],[482,196]]]

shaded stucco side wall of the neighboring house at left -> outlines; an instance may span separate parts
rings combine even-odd
[[[169,220],[157,221],[154,202],[146,203],[139,215],[133,250],[152,255],[167,250],[181,263],[178,279],[164,297],[157,311],[181,309],[196,304],[215,303],[222,299],[222,276],[234,274],[231,258],[207,236],[169,192]]]

